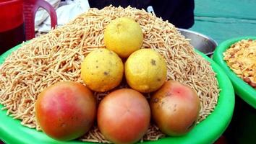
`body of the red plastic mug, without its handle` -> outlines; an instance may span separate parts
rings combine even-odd
[[[0,54],[25,40],[23,1],[0,0]]]

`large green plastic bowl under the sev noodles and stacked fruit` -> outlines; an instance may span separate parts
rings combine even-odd
[[[0,63],[3,63],[7,55],[17,48],[20,48],[20,45],[17,45],[7,51],[7,53],[1,55]],[[226,76],[223,70],[214,63],[213,60],[199,51],[197,51],[197,53],[202,55],[205,60],[208,60],[213,71],[217,73],[219,89],[221,89],[221,92],[216,109],[205,120],[188,132],[187,135],[180,137],[166,137],[157,141],[147,141],[144,143],[213,143],[222,135],[226,130],[226,127],[228,127],[234,111],[234,89],[231,81],[229,81],[228,76]],[[0,108],[1,107],[3,106],[0,104]],[[35,129],[22,126],[20,120],[13,120],[12,117],[7,116],[6,110],[0,110],[0,120],[0,139],[5,143],[85,143],[77,140],[63,142],[51,139],[43,132],[38,132]]]

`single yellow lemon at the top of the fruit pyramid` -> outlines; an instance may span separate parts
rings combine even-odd
[[[114,19],[104,30],[104,42],[106,48],[113,50],[121,58],[127,58],[142,46],[143,34],[140,24],[127,17]]]

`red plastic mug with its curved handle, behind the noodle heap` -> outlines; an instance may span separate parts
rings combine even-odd
[[[0,55],[35,37],[35,12],[39,7],[50,14],[51,27],[55,27],[56,12],[44,0],[0,0]]]

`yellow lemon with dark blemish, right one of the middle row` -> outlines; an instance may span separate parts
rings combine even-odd
[[[153,49],[140,49],[132,53],[124,66],[125,78],[132,89],[152,92],[166,81],[166,61]]]

